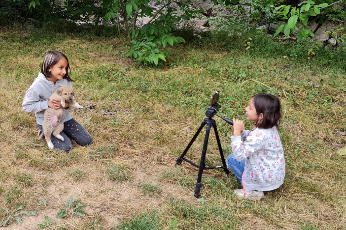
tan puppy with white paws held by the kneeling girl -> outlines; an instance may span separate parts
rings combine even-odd
[[[78,109],[83,108],[83,106],[79,105],[77,102],[74,101],[74,93],[69,86],[59,87],[52,94],[52,96],[49,97],[49,100],[52,100],[52,99],[60,100],[60,103],[63,107],[65,107],[65,102],[69,102],[69,108],[78,108]],[[61,122],[64,116],[65,116],[65,109],[55,110],[52,108],[48,108],[44,112],[43,124],[42,124],[43,132],[39,136],[38,140],[41,140],[44,135],[44,138],[46,139],[46,142],[50,149],[54,148],[54,145],[52,141],[50,140],[52,134],[54,137],[58,138],[59,140],[64,141],[64,138],[60,135],[60,133],[64,129],[64,123]]]

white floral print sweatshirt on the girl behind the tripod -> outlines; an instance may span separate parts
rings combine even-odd
[[[242,136],[232,136],[231,141],[235,159],[246,159],[242,174],[242,186],[246,191],[270,191],[283,183],[285,159],[276,126],[244,130]]]

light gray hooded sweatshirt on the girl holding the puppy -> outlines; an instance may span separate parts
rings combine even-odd
[[[72,84],[67,79],[58,80],[54,84],[48,81],[42,73],[39,73],[33,84],[25,93],[22,110],[24,112],[35,113],[36,123],[42,125],[44,111],[48,109],[49,97],[60,86],[69,86],[72,88]],[[66,109],[66,115],[62,121],[66,122],[70,119],[72,119],[72,116],[69,114],[69,110]]]

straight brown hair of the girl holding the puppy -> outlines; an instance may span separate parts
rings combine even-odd
[[[55,50],[50,50],[46,53],[44,56],[42,66],[41,66],[41,73],[46,77],[46,78],[51,78],[52,74],[49,72],[49,69],[58,63],[61,58],[65,58],[68,62],[68,66],[66,67],[66,74],[64,78],[66,78],[69,82],[74,82],[70,77],[71,69],[69,68],[69,59],[64,55],[63,53]]]

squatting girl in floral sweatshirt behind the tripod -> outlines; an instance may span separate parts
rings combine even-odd
[[[280,101],[271,94],[257,94],[245,111],[255,127],[244,130],[243,121],[233,118],[233,153],[227,157],[227,166],[242,183],[243,188],[234,193],[243,199],[259,200],[263,191],[277,189],[285,177],[285,159],[277,132]]]

